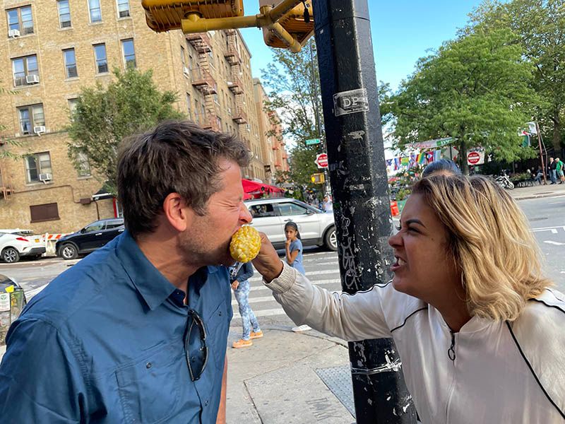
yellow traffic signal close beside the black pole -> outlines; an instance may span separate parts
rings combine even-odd
[[[274,6],[275,0],[259,0],[259,7]],[[278,3],[278,1],[277,1]],[[306,4],[306,7],[304,7]],[[312,11],[312,0],[305,1],[290,9],[278,18],[278,23],[289,33],[300,45],[314,34],[314,13]],[[270,47],[285,49],[288,43],[281,40],[272,28],[263,27],[263,39]]]

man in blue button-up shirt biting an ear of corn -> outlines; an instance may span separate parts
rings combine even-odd
[[[2,423],[216,423],[232,318],[225,266],[232,234],[251,221],[248,163],[243,143],[189,122],[125,144],[126,230],[11,326]]]

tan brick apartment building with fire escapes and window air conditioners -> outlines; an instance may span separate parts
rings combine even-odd
[[[265,136],[265,91],[251,76],[251,53],[239,31],[154,33],[139,1],[4,0],[0,20],[0,136],[25,154],[0,159],[0,228],[70,232],[119,216],[100,192],[88,158],[76,170],[65,126],[82,87],[112,81],[112,69],[153,69],[160,90],[178,94],[176,107],[206,128],[236,134],[253,159],[243,177],[273,182],[287,170],[284,144]],[[280,128],[275,128],[280,131]]]

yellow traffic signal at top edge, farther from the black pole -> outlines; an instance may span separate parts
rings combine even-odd
[[[141,6],[148,27],[157,33],[179,30],[191,14],[205,19],[243,16],[243,0],[142,0]]]

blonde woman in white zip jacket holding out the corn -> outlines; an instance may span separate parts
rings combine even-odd
[[[254,265],[296,324],[393,337],[423,423],[564,422],[565,296],[513,199],[485,177],[424,178],[389,244],[392,283],[355,295],[312,285],[264,235]]]

